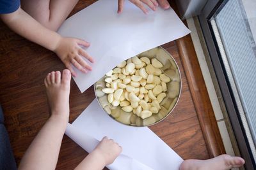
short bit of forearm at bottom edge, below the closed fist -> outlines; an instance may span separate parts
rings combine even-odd
[[[102,155],[97,150],[93,150],[82,162],[76,167],[75,170],[101,170],[106,166]]]

